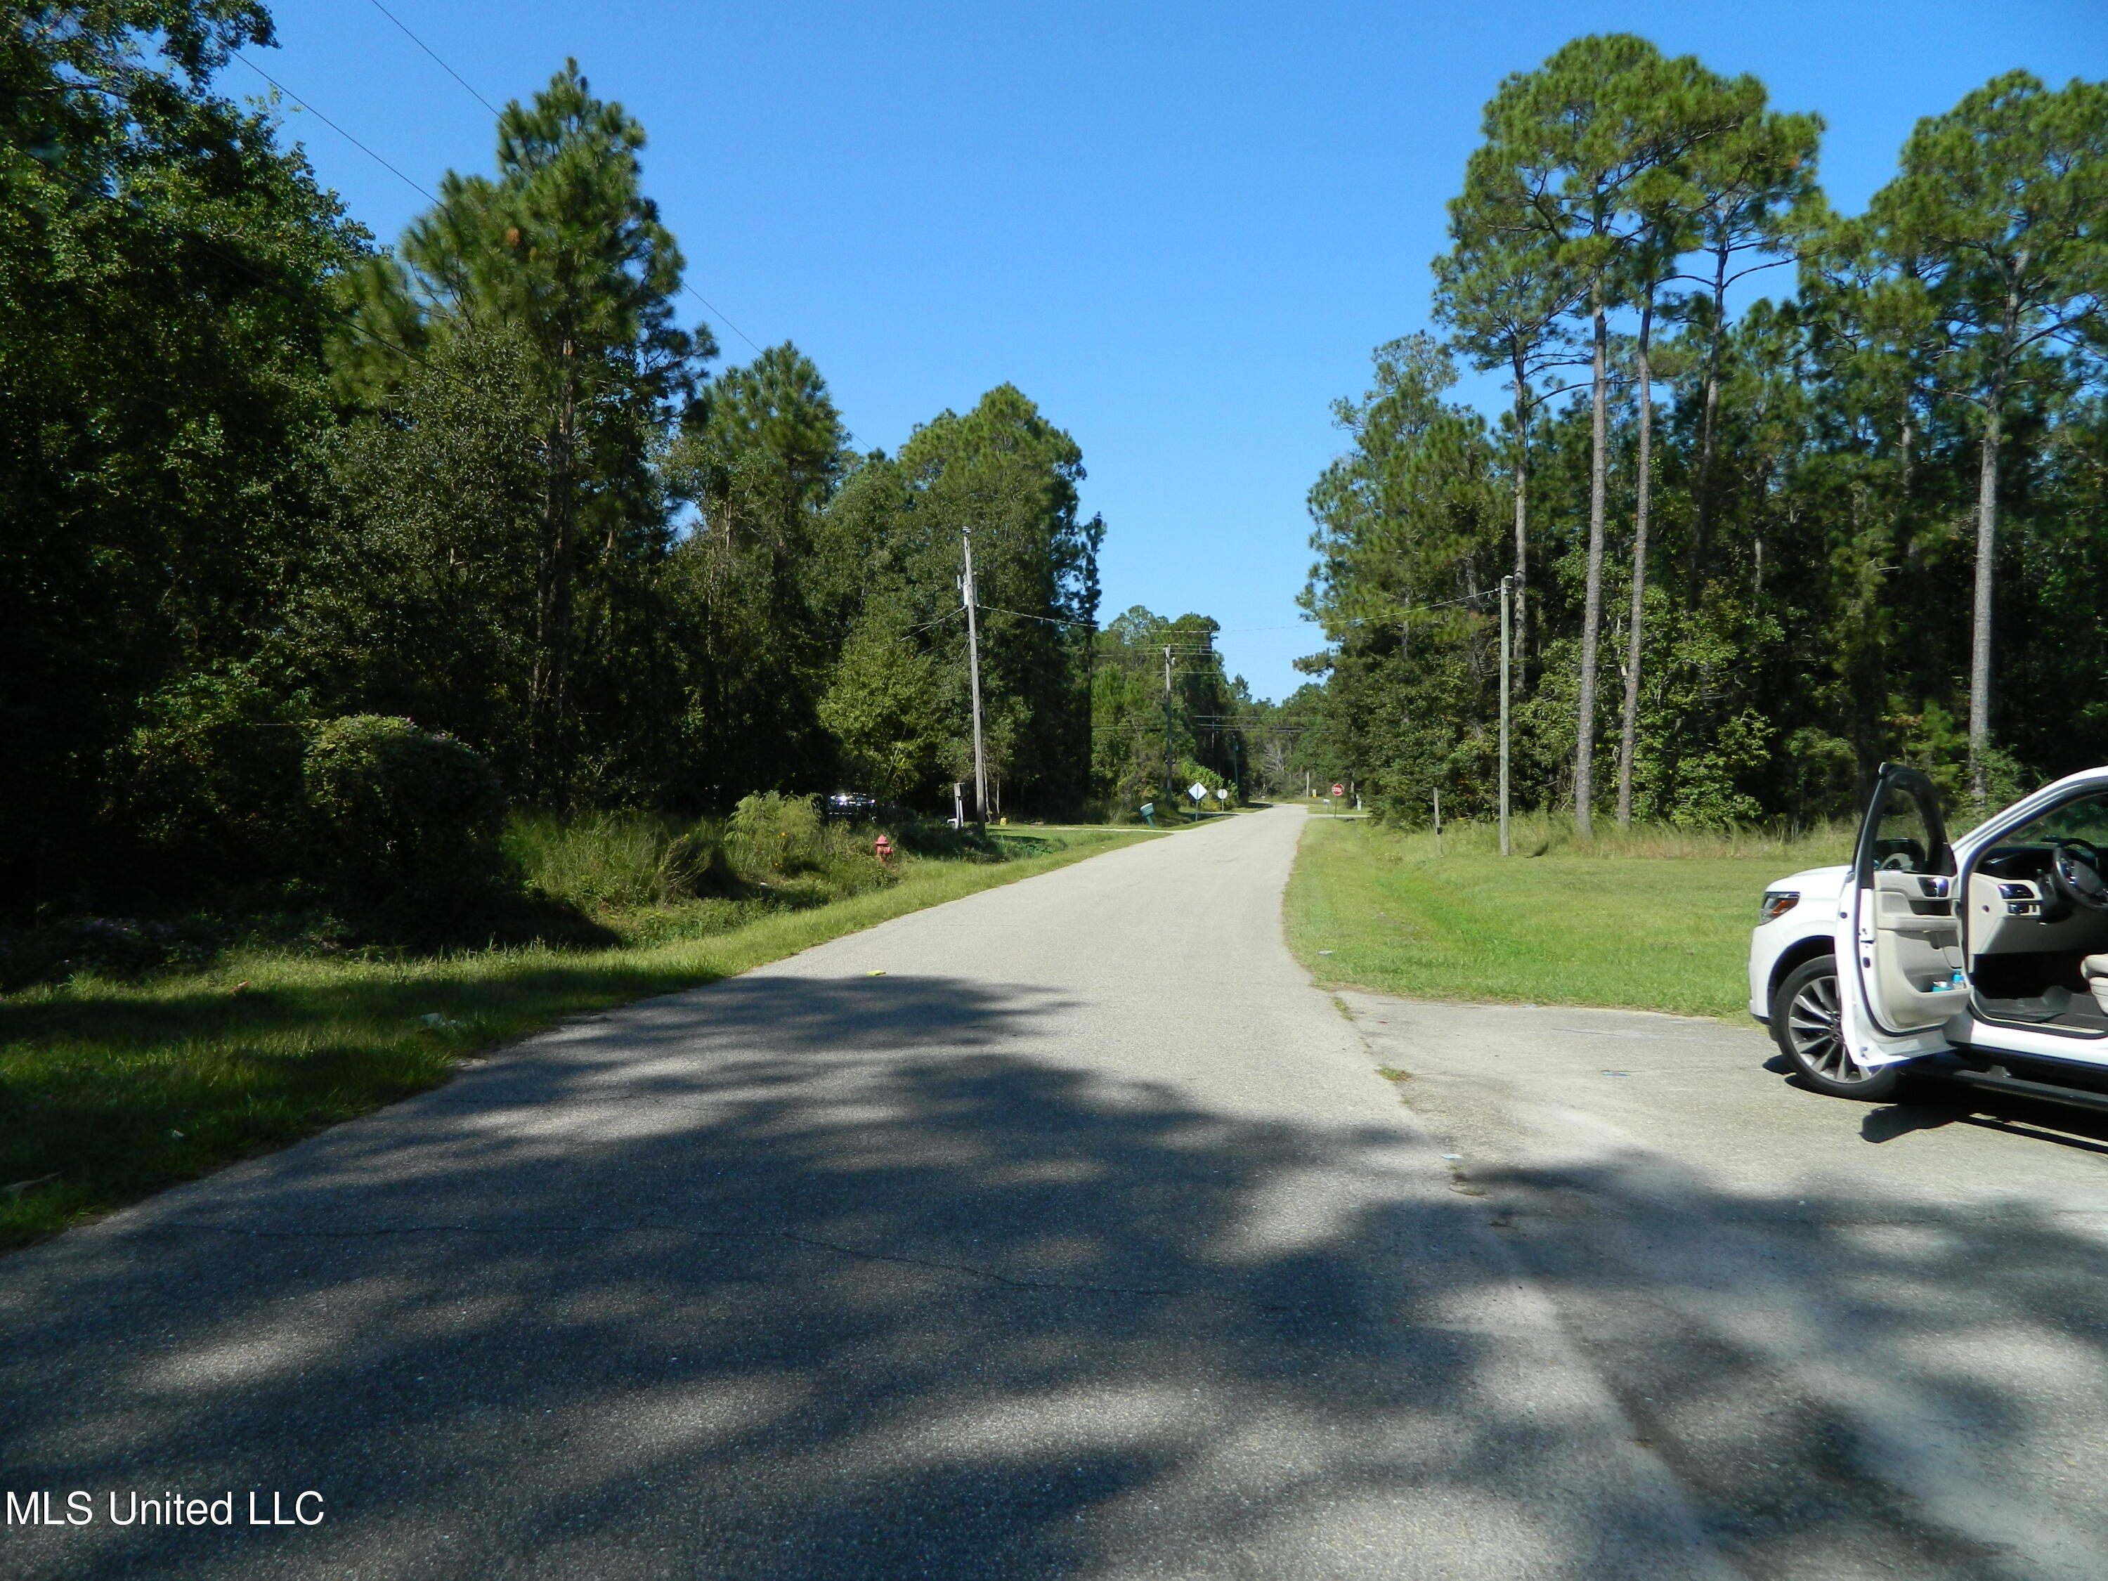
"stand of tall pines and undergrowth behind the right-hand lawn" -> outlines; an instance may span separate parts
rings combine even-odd
[[[1832,816],[1889,757],[1965,801],[2108,759],[2108,84],[1990,80],[1863,215],[1819,135],[1632,36],[1501,84],[1448,339],[1377,350],[1311,491],[1322,772],[1490,809],[1503,580],[1516,799],[1581,828]],[[1754,274],[1790,289],[1735,314]]]

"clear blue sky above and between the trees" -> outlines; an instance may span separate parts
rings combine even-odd
[[[1503,74],[1613,30],[1756,72],[1830,122],[1842,209],[1996,72],[2108,76],[2108,0],[384,4],[493,103],[578,57],[651,135],[647,188],[727,360],[753,354],[727,316],[795,339],[860,445],[1022,388],[1084,447],[1105,613],[1214,616],[1261,696],[1320,645],[1294,594],[1328,403],[1427,325],[1442,204]],[[274,15],[259,61],[316,112],[428,188],[489,169],[489,112],[371,0]],[[424,207],[314,116],[287,135],[384,240]]]

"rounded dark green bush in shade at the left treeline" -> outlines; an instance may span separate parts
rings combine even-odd
[[[346,898],[451,909],[502,887],[504,790],[451,736],[382,715],[333,719],[304,778],[316,858]]]

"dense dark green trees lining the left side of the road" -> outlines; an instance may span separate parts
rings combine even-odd
[[[795,346],[713,367],[645,133],[575,63],[377,247],[213,86],[270,30],[251,0],[0,30],[13,913],[327,885],[360,839],[384,873],[506,803],[949,812],[965,529],[995,812],[1107,790],[1105,525],[1024,394],[858,453]]]

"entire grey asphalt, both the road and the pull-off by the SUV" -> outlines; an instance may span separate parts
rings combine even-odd
[[[2108,1568],[2108,1147],[1798,1094],[1707,1022],[1349,1022],[1282,946],[1301,816],[567,1024],[0,1261],[0,1488],[95,1509],[0,1575]]]

